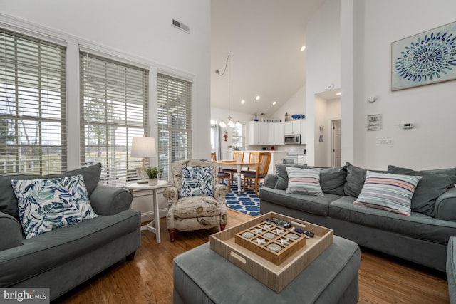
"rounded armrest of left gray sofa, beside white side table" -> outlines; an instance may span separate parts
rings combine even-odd
[[[98,215],[113,215],[130,209],[133,194],[118,187],[98,184],[90,195],[90,204]]]

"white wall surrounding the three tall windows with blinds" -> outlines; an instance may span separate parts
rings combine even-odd
[[[68,61],[74,63],[78,44],[96,46],[110,53],[125,54],[150,65],[151,108],[156,108],[157,68],[191,78],[193,85],[194,157],[203,157],[210,147],[210,0],[0,0],[0,13],[31,23],[33,31],[48,29],[68,41]],[[172,19],[190,27],[190,34],[171,26]],[[1,21],[1,19],[0,19]],[[120,56],[123,57],[123,56]],[[78,104],[78,65],[67,65],[68,103]],[[74,112],[78,112],[77,108]],[[156,121],[156,111],[151,111]],[[154,119],[155,118],[155,119]],[[152,132],[157,132],[152,124]],[[76,133],[77,135],[77,133]],[[76,147],[68,151],[78,150]],[[68,155],[78,166],[78,157]],[[76,160],[75,160],[76,159]]]

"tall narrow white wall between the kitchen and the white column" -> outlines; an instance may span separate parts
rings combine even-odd
[[[329,84],[341,88],[340,50],[339,1],[328,0],[309,21],[306,32],[307,163],[311,165],[316,164],[316,152],[321,147],[316,135],[323,119],[321,110],[316,108],[316,94],[326,91]],[[317,103],[321,101],[317,99]],[[323,158],[326,162],[326,157]]]

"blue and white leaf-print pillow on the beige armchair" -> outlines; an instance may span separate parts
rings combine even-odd
[[[212,167],[182,167],[180,197],[213,196],[214,176]]]

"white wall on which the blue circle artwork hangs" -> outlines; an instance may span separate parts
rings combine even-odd
[[[355,46],[363,45],[363,54],[358,57],[362,61],[361,74],[351,76],[354,164],[369,169],[386,169],[388,164],[413,169],[455,167],[456,141],[452,132],[456,81],[392,92],[390,47],[393,41],[456,21],[456,1],[436,0],[432,5],[423,0],[361,2],[361,9],[357,10],[359,2],[353,1],[355,23],[363,23],[364,28],[363,36],[355,36],[353,41]],[[346,35],[350,33],[343,32],[341,38]],[[350,76],[343,72],[342,78],[345,77]],[[366,98],[372,93],[378,100],[368,103]],[[366,116],[371,114],[382,115],[382,130],[366,130]],[[403,130],[399,127],[401,122],[413,122],[415,128]],[[343,129],[342,140],[345,134]],[[378,140],[382,138],[392,138],[394,145],[379,146]]]

